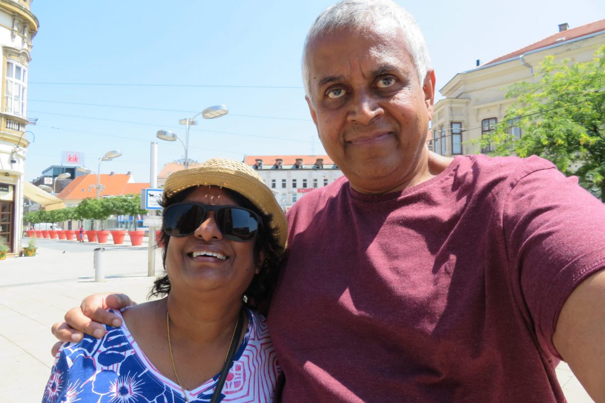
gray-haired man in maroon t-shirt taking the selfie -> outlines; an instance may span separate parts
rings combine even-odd
[[[605,402],[603,205],[540,158],[430,152],[435,75],[388,0],[325,10],[303,79],[345,178],[289,213],[283,401],[563,402],[563,358]]]

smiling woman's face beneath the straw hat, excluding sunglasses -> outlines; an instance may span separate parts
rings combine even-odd
[[[184,202],[209,205],[237,205],[218,187],[200,186]],[[240,298],[258,268],[254,259],[255,239],[237,242],[223,237],[214,213],[209,211],[195,232],[172,236],[166,249],[166,271],[171,292],[187,288],[200,292],[220,291]],[[262,262],[261,259],[259,259]]]

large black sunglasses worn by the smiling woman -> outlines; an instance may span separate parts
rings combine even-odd
[[[223,237],[238,242],[251,240],[263,222],[254,211],[236,205],[182,202],[165,208],[163,230],[169,236],[189,236],[206,220],[208,211],[214,211],[214,220]]]

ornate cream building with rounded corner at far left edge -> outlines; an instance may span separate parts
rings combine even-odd
[[[0,236],[11,253],[21,249],[24,160],[30,144],[26,129],[27,73],[32,39],[39,27],[30,5],[31,0],[0,1]]]

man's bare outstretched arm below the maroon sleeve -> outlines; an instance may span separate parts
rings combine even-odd
[[[552,343],[590,397],[605,403],[605,268],[569,295]]]

